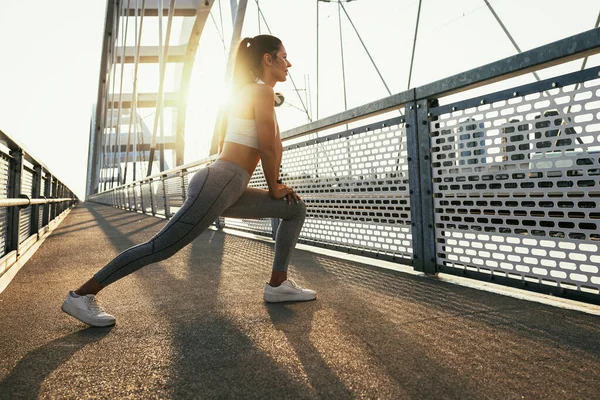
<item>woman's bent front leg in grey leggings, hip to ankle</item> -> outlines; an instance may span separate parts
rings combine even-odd
[[[278,286],[287,279],[287,267],[292,250],[296,246],[304,218],[306,205],[303,201],[288,204],[286,199],[276,200],[266,190],[247,188],[244,194],[223,214],[231,218],[281,218],[275,239],[275,257],[271,286]]]

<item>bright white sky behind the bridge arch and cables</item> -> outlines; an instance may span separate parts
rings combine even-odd
[[[256,3],[248,3],[243,36],[254,36],[258,34]],[[597,0],[571,0],[568,6],[559,0],[495,0],[491,4],[522,50],[592,29],[600,11]],[[221,5],[228,45],[229,0],[221,0]],[[260,0],[260,5],[273,34],[287,48],[298,88],[304,90],[305,77],[310,79],[312,98],[307,103],[312,104],[315,116],[316,3]],[[344,5],[392,93],[406,90],[418,1],[356,0]],[[320,5],[321,118],[344,109],[337,7],[335,3]],[[105,10],[105,0],[0,0],[0,130],[21,143],[80,198],[85,191]],[[218,3],[213,14],[220,24]],[[342,19],[351,108],[388,94],[344,15]],[[515,53],[483,0],[423,0],[411,86]],[[207,155],[224,63],[223,45],[209,20],[192,75],[186,162]],[[588,66],[599,64],[598,56],[588,61]],[[544,79],[580,66],[581,61],[573,62],[540,75]],[[532,80],[530,74],[495,87]],[[153,83],[152,78],[146,82]],[[301,107],[289,82],[276,89],[289,104]],[[307,122],[306,114],[290,105],[278,109],[278,119],[282,130]]]

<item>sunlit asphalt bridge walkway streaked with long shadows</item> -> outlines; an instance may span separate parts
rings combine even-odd
[[[297,250],[309,303],[262,300],[273,246],[209,230],[60,305],[164,220],[84,203],[0,294],[0,398],[594,398],[600,317]]]

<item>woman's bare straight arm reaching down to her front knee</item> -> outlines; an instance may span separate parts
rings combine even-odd
[[[281,161],[281,143],[277,143],[275,120],[273,118],[275,94],[273,88],[267,85],[257,85],[256,93],[254,119],[258,131],[260,159],[269,186],[269,193],[274,196],[278,191],[278,161]]]

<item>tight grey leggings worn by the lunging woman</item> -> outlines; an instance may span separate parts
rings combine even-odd
[[[217,160],[190,180],[181,209],[146,243],[133,246],[98,271],[94,278],[103,287],[145,265],[165,260],[191,243],[219,216],[281,218],[275,241],[273,270],[287,271],[304,217],[304,202],[275,200],[266,190],[248,188],[250,176],[241,166]]]

